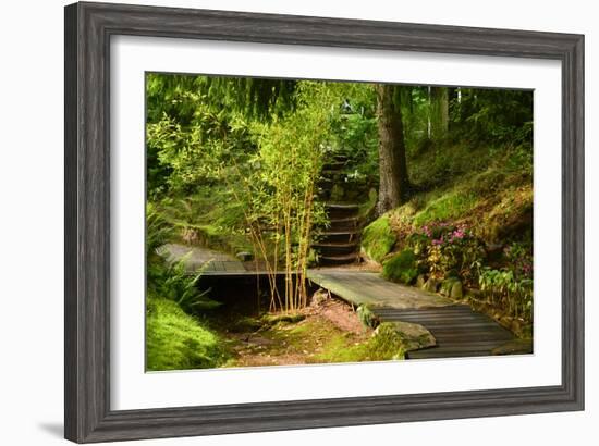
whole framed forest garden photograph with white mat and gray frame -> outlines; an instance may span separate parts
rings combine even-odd
[[[65,8],[65,437],[584,409],[584,36]]]

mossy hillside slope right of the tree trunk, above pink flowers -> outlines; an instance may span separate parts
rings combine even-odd
[[[466,224],[488,244],[531,241],[533,171],[522,149],[432,146],[412,160],[409,176],[408,200],[365,228],[362,244],[375,260],[389,257],[389,240],[399,252],[431,223]]]

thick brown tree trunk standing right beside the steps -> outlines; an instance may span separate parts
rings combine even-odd
[[[377,115],[379,126],[379,214],[403,202],[407,187],[407,165],[403,135],[402,113],[396,88],[377,85]]]

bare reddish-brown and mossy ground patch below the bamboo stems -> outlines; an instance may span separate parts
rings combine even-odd
[[[340,326],[340,315],[352,319],[351,326]],[[231,356],[225,367],[403,358],[402,340],[399,336],[390,333],[372,335],[372,330],[362,326],[357,315],[340,301],[328,301],[291,317],[267,314],[244,318],[239,322],[221,321],[217,329],[225,339]]]

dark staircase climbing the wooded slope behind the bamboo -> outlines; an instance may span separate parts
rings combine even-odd
[[[347,159],[334,156],[322,170],[319,183],[319,197],[325,201],[325,210],[330,225],[318,231],[318,241],[313,248],[318,253],[319,265],[341,265],[359,260],[359,207],[343,201],[343,189],[347,182],[343,168]]]

